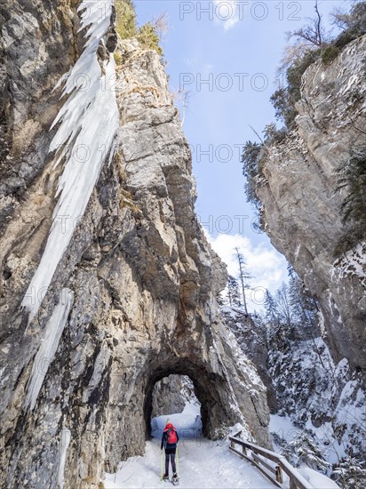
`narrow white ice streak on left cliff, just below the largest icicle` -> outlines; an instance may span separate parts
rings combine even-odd
[[[31,410],[36,405],[36,399],[44,383],[44,377],[59,347],[61,334],[73,304],[74,293],[69,289],[62,289],[60,302],[53,310],[52,317],[50,317],[44,328],[44,339],[33,361],[25,403],[27,407],[30,406]]]

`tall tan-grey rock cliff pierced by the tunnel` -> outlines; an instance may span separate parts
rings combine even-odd
[[[60,89],[52,93],[48,75],[59,78],[80,59],[77,5],[29,0],[2,9],[0,464],[7,469],[0,485],[6,487],[97,487],[105,470],[144,452],[155,382],[171,373],[193,381],[207,436],[241,422],[248,437],[269,444],[266,389],[219,315],[226,270],[195,217],[191,156],[163,64],[136,41],[118,46],[115,156],[110,164],[106,157],[84,214],[72,222],[51,286],[34,291],[36,316],[29,321],[20,308],[54,232],[56,184],[65,170],[52,167],[48,130],[65,102]],[[102,79],[114,38],[112,28],[100,40]],[[42,89],[34,91],[27,76],[44,80]]]

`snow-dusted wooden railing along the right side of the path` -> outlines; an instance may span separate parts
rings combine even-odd
[[[278,453],[266,450],[266,448],[244,441],[240,437],[241,435],[242,431],[239,431],[234,437],[229,438],[231,442],[230,450],[243,457],[243,459],[250,461],[274,485],[285,487],[283,485],[283,472],[285,472],[290,479],[290,489],[314,489],[314,486],[307,482],[284,457]],[[238,450],[235,445],[240,445],[242,450]]]

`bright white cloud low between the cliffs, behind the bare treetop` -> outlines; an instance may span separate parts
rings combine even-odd
[[[267,244],[252,244],[251,240],[242,235],[228,235],[220,233],[213,237],[206,232],[212,248],[222,261],[227,264],[227,272],[238,277],[239,268],[235,255],[235,248],[243,254],[247,269],[253,276],[251,287],[255,293],[248,292],[249,309],[260,309],[263,293],[268,289],[274,293],[283,281],[287,281],[287,262],[275,248]]]

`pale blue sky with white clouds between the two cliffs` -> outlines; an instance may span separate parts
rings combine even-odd
[[[254,212],[244,195],[241,149],[256,132],[275,121],[270,97],[286,32],[314,16],[314,0],[179,1],[134,0],[139,25],[165,13],[162,39],[171,92],[188,92],[183,130],[193,153],[198,198],[195,210],[215,251],[237,277],[235,246],[246,258],[255,289],[250,309],[258,309],[261,290],[274,292],[287,280],[287,263],[268,237],[252,227]],[[323,20],[348,8],[347,0],[319,0]],[[249,292],[248,292],[249,293]]]

